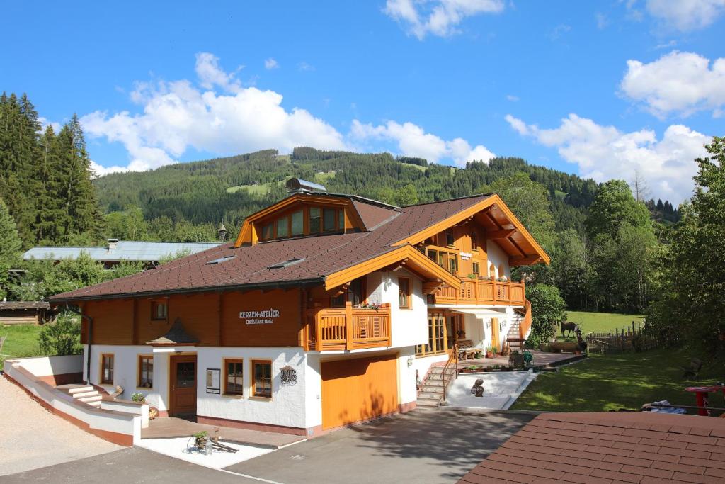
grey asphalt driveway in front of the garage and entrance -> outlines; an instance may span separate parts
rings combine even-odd
[[[533,415],[413,411],[297,443],[224,471],[144,448],[0,477],[0,483],[455,483]]]

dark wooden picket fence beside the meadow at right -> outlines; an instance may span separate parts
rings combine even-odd
[[[587,335],[587,346],[592,353],[654,350],[674,343],[676,341],[671,340],[671,337],[655,331],[646,321],[645,324],[632,321],[630,327],[615,329],[614,332]]]

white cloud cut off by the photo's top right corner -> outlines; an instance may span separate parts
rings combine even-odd
[[[647,0],[647,12],[668,27],[687,32],[715,22],[725,12],[725,0]]]

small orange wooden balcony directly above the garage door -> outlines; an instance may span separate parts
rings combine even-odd
[[[306,351],[385,348],[390,346],[390,305],[309,309],[305,333]]]

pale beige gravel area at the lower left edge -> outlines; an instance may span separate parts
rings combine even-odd
[[[0,475],[119,450],[51,414],[0,376]]]

